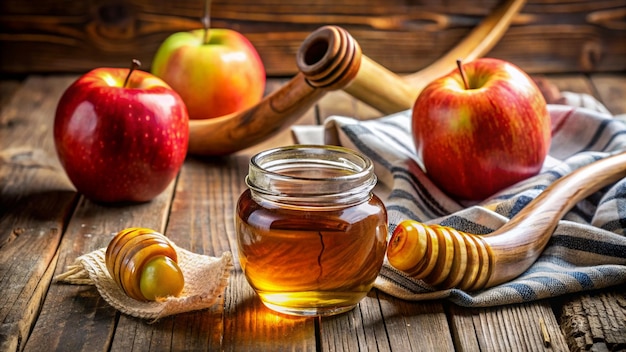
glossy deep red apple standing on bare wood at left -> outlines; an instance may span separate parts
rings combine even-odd
[[[67,175],[87,198],[143,202],[177,175],[187,153],[188,123],[182,99],[161,79],[97,68],[63,93],[54,142]]]

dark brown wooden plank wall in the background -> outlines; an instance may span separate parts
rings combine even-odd
[[[415,72],[454,46],[499,0],[214,0],[214,27],[256,46],[271,76],[296,71],[295,53],[316,28],[335,24],[363,52],[398,73]],[[2,0],[0,73],[149,68],[159,44],[200,28],[202,0]],[[529,73],[626,70],[626,0],[529,0],[490,52]]]

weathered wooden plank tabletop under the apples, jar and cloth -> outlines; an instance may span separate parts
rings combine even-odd
[[[625,287],[530,304],[468,309],[447,301],[407,302],[377,290],[354,310],[294,318],[266,309],[236,263],[222,299],[203,311],[148,323],[120,314],[91,286],[52,278],[81,254],[105,247],[130,226],[160,230],[180,247],[236,255],[233,208],[249,157],[292,144],[289,131],[222,158],[186,160],[159,197],[103,206],[78,194],[54,151],[51,127],[76,76],[1,81],[0,351],[624,351]],[[549,76],[626,113],[626,75]],[[284,80],[270,80],[268,91]],[[298,124],[333,114],[379,114],[344,92],[325,96]],[[542,332],[542,325],[545,331]]]

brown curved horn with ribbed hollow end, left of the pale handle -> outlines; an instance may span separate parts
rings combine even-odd
[[[255,106],[230,115],[189,121],[189,153],[225,155],[253,146],[288,127],[326,92],[341,89],[361,70],[361,48],[348,32],[325,26],[298,51],[302,72]]]

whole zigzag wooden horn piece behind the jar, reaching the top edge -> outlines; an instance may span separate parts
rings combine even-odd
[[[524,3],[505,1],[448,55],[406,79],[363,55],[345,29],[321,27],[298,50],[300,72],[273,94],[240,112],[189,121],[189,153],[226,155],[256,145],[289,127],[324,94],[337,89],[383,113],[409,109],[422,88],[453,69],[458,57],[476,58],[495,45]],[[450,55],[455,58],[448,60]]]

